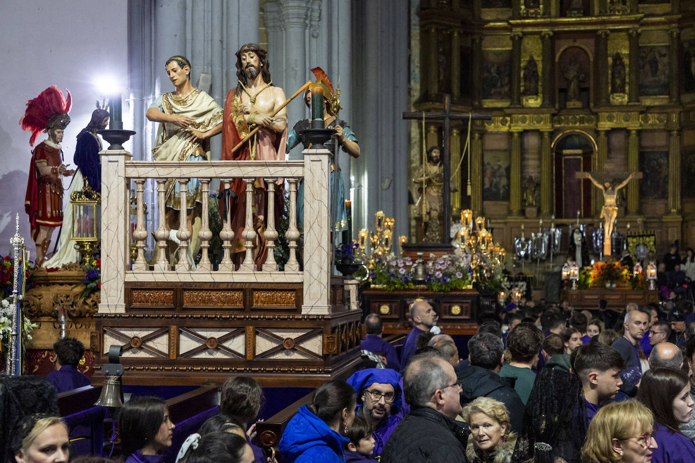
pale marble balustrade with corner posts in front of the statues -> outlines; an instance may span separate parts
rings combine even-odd
[[[304,150],[304,160],[287,161],[205,161],[205,162],[161,162],[132,161],[127,151],[101,151],[102,203],[101,203],[101,303],[100,313],[125,312],[124,284],[126,282],[232,282],[232,283],[303,283],[304,305],[302,313],[329,312],[330,242],[329,242],[329,152],[327,150]],[[167,259],[166,249],[170,230],[165,221],[165,183],[174,178],[181,186],[181,203],[186,202],[190,178],[198,178],[202,190],[202,226],[198,237],[201,240],[202,259],[195,269],[186,258],[186,249],[192,230],[186,224],[186,208],[179,214],[177,237],[181,240],[179,260],[174,268]],[[231,262],[234,230],[229,226],[229,214],[222,217],[220,232],[224,255],[218,270],[213,270],[208,255],[212,233],[208,223],[210,201],[209,185],[213,178],[229,186],[234,178],[243,178],[246,185],[246,220],[243,238],[245,259],[240,269],[235,270]],[[260,271],[253,262],[253,242],[256,231],[252,224],[254,205],[253,183],[263,178],[268,187],[268,217],[264,237],[268,242],[268,260]],[[278,237],[275,214],[272,211],[274,195],[279,194],[275,180],[284,178],[290,194],[290,224],[286,233],[290,256],[284,271],[278,271],[273,257],[275,240]],[[158,228],[147,230],[143,212],[145,182],[154,179],[158,201]],[[304,270],[297,263],[297,185],[304,180]],[[137,198],[137,222],[133,230],[136,259],[130,262],[130,205],[129,189],[135,185]],[[213,199],[213,201],[216,201]],[[222,211],[220,211],[222,215]],[[145,241],[150,232],[156,239],[156,264],[154,269],[145,260]]]

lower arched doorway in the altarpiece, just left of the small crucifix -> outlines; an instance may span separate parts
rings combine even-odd
[[[589,180],[579,180],[575,174],[589,172],[596,159],[596,140],[584,131],[566,131],[555,137],[550,145],[553,151],[553,193],[555,217],[575,219],[592,217],[593,185]]]

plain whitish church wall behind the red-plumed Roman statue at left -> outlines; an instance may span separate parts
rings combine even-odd
[[[25,103],[51,85],[72,94],[72,122],[65,129],[65,163],[74,166],[76,135],[87,125],[101,94],[95,77],[111,71],[126,85],[128,69],[126,0],[3,0],[0,14],[0,253],[8,252],[19,212],[19,233],[35,256],[24,213],[31,160],[31,133],[19,128]],[[127,106],[123,112],[126,114]],[[45,135],[38,137],[38,142]],[[131,144],[125,145],[131,149]],[[65,180],[67,187],[68,180]],[[54,242],[58,232],[54,233]],[[51,245],[52,247],[52,245]]]

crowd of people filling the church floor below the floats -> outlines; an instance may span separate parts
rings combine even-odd
[[[220,414],[188,436],[177,463],[695,462],[692,306],[591,312],[522,300],[501,309],[468,339],[466,358],[427,301],[411,305],[400,355],[368,315],[361,347],[375,368],[320,385],[277,455],[255,441],[263,389],[229,378]],[[57,392],[88,380],[76,369],[83,349],[56,342]],[[125,463],[164,461],[175,426],[161,398],[133,396],[117,423]],[[25,416],[11,451],[17,463],[67,462],[67,426]]]

